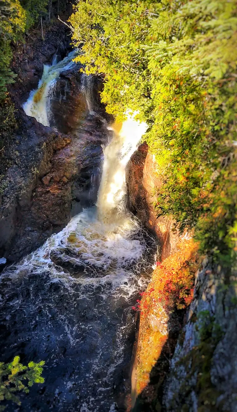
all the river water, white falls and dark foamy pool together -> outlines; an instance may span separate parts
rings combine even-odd
[[[51,82],[46,71],[43,77],[24,108],[46,124],[49,95],[34,101],[42,82]],[[19,411],[126,410],[131,306],[147,283],[156,247],[126,210],[125,167],[145,129],[129,114],[114,126],[103,147],[96,205],[1,275],[2,359],[20,354],[22,361],[46,361],[45,384],[21,396]]]

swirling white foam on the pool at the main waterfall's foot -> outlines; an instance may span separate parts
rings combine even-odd
[[[129,273],[123,270],[124,267],[136,262],[144,251],[144,242],[131,239],[131,234],[139,229],[136,220],[129,217],[118,226],[99,221],[95,208],[86,209],[72,218],[61,232],[47,239],[41,248],[26,256],[18,265],[6,269],[7,276],[14,277],[26,270],[36,274],[48,271],[54,279],[61,279],[69,286],[75,278],[54,263],[54,255],[61,262],[85,266],[83,272],[89,273],[89,276],[81,277],[77,282],[104,284],[109,280],[117,287],[129,280]]]

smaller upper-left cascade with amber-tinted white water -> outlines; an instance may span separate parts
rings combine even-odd
[[[53,59],[52,66],[44,65],[42,78],[38,84],[38,89],[31,91],[31,94],[23,104],[26,115],[35,117],[37,122],[44,126],[49,126],[50,108],[49,97],[60,73],[71,68],[75,63],[75,51],[70,52],[62,61],[56,63],[56,57]]]

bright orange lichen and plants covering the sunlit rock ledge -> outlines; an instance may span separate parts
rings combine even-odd
[[[188,306],[193,297],[195,272],[199,266],[198,244],[182,239],[177,251],[157,262],[152,279],[134,309],[141,314],[136,368],[136,395],[150,381],[150,372],[168,338],[168,321],[175,308]]]

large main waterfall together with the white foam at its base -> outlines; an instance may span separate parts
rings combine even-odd
[[[139,225],[124,207],[125,168],[146,127],[146,124],[137,122],[134,116],[127,115],[120,130],[114,131],[113,139],[103,148],[104,163],[97,208],[86,209],[72,218],[61,232],[52,235],[17,267],[13,266],[13,271],[10,269],[13,276],[26,270],[38,274],[48,270],[54,278],[63,279],[67,284],[75,281],[75,278],[55,265],[53,253],[60,257],[61,262],[85,265],[85,273],[89,269],[89,276],[77,279],[82,285],[110,281],[113,289],[122,285],[126,290],[125,295],[134,292],[137,284],[132,286],[133,274],[124,270],[124,267],[141,258],[145,244],[131,239],[131,234],[139,230]]]

